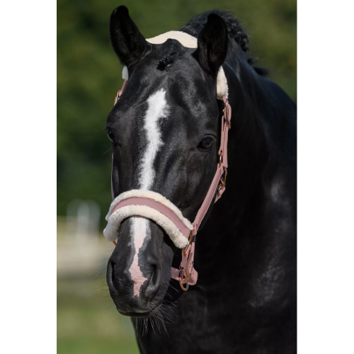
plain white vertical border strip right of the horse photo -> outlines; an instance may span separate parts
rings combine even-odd
[[[298,353],[354,353],[353,4],[298,25]]]

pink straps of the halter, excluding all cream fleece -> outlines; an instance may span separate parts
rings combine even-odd
[[[115,104],[118,102],[126,86],[127,80],[124,81],[122,89],[118,91],[118,95],[115,98]],[[229,105],[229,101],[227,100],[226,96],[222,96],[222,99],[224,101],[225,107],[223,110],[224,114],[222,115],[222,131],[219,147],[219,164],[217,164],[217,171],[212,180],[210,188],[207,191],[205,200],[202,202],[202,206],[198,210],[198,214],[195,217],[195,220],[193,222],[193,229],[190,230],[192,227],[188,228],[187,225],[183,221],[181,221],[181,215],[177,215],[180,214],[179,212],[173,210],[173,208],[169,207],[169,205],[166,205],[166,203],[162,203],[152,198],[137,196],[126,198],[118,202],[118,204],[115,205],[115,207],[113,208],[113,211],[111,211],[111,214],[113,214],[116,210],[130,205],[146,206],[161,213],[162,215],[164,215],[164,217],[171,220],[171,222],[176,225],[181,234],[183,234],[183,236],[188,239],[188,245],[185,246],[184,249],[182,249],[182,261],[180,269],[171,268],[171,278],[178,280],[181,285],[181,288],[184,291],[188,290],[189,285],[195,285],[198,279],[198,272],[194,269],[195,235],[198,232],[198,228],[200,227],[202,219],[205,217],[207,210],[209,210],[215,193],[215,202],[217,202],[217,200],[221,198],[222,193],[224,193],[225,191],[225,183],[227,177],[227,139],[229,129],[231,129],[231,106]],[[112,198],[114,200],[115,196],[113,192],[112,178],[111,190]],[[113,244],[116,245],[115,241],[113,241]]]

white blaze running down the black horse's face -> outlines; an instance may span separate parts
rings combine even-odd
[[[147,149],[139,166],[139,189],[149,190],[154,183],[154,160],[160,147],[161,140],[159,120],[169,114],[169,105],[165,98],[166,91],[161,89],[147,99],[148,108],[144,119],[144,131],[147,135]],[[130,276],[134,280],[134,295],[139,295],[140,288],[147,278],[144,277],[138,264],[139,249],[144,244],[149,222],[143,217],[132,217],[132,238],[134,239],[135,255],[130,266]]]

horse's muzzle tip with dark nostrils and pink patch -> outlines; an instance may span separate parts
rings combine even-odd
[[[120,265],[112,257],[108,261],[107,283],[110,296],[123,314],[149,312],[149,304],[159,290],[159,265],[144,261],[140,268],[135,269],[134,261],[130,268]]]

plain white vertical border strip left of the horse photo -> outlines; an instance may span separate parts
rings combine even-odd
[[[55,6],[1,3],[0,353],[56,350]]]

